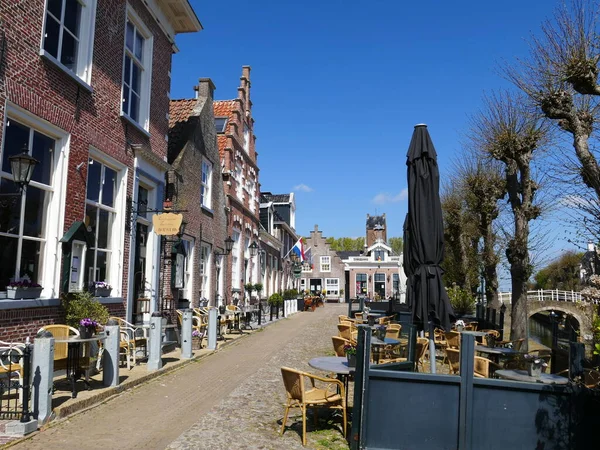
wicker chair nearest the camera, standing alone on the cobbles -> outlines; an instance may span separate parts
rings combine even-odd
[[[302,445],[306,445],[306,410],[308,408],[333,408],[341,409],[343,415],[343,430],[346,437],[346,392],[344,383],[340,380],[323,378],[307,372],[281,368],[283,384],[287,393],[287,403],[285,405],[285,414],[281,423],[280,435],[283,435],[287,424],[290,408],[299,407],[302,410]],[[306,389],[305,380],[310,380],[310,386]],[[318,388],[315,381],[327,383],[325,388]],[[330,390],[331,387],[335,390]],[[314,414],[316,422],[316,412]]]

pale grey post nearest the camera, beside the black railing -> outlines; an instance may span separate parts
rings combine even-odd
[[[52,379],[54,378],[54,337],[45,332],[35,338],[32,364],[33,417],[40,425],[50,420],[52,414]]]

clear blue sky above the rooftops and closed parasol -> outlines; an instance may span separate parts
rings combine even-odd
[[[427,123],[442,176],[482,95],[508,86],[503,60],[527,54],[555,0],[191,0],[204,26],[180,35],[171,95],[210,77],[235,98],[252,66],[260,183],[296,192],[296,229],[365,234],[366,214],[402,236],[406,150]]]

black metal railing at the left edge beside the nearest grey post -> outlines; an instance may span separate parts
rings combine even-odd
[[[30,420],[31,354],[31,344],[0,343],[0,420]]]

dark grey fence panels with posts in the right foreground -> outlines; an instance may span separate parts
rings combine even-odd
[[[461,376],[381,370],[359,327],[351,448],[589,449],[600,423],[600,392],[473,378],[473,336],[463,335]]]

